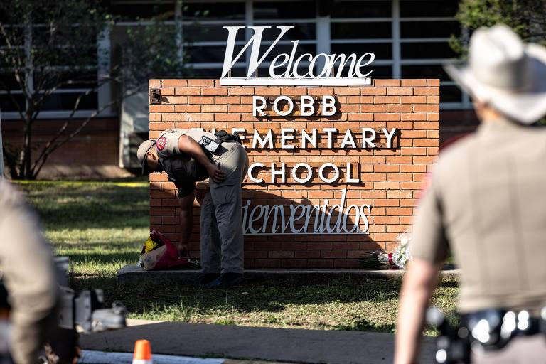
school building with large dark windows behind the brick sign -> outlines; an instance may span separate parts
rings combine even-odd
[[[181,31],[181,52],[196,79],[218,80],[223,67],[228,32],[223,26],[294,26],[257,70],[267,73],[278,53],[291,50],[299,41],[299,53],[339,54],[372,52],[375,80],[439,79],[440,145],[459,134],[476,128],[476,117],[468,95],[449,80],[441,64],[456,57],[449,46],[452,35],[461,27],[454,18],[459,1],[454,0],[200,0],[140,1],[111,0],[107,11],[117,21],[108,29],[97,47],[97,64],[114,64],[123,51],[128,28],[150,24],[161,18]],[[274,40],[277,32],[264,33],[262,45]],[[247,28],[237,38],[235,48],[252,37]],[[173,46],[176,46],[173,44]],[[106,57],[106,59],[104,59]],[[232,68],[232,76],[245,74],[248,55]],[[302,63],[303,66],[304,63]],[[99,72],[97,72],[97,77]],[[47,100],[36,124],[35,142],[47,141],[68,117],[78,92],[61,89]],[[20,94],[20,90],[12,90]],[[77,117],[86,117],[109,103],[120,92],[109,85],[87,97]],[[41,178],[102,176],[115,177],[134,171],[137,146],[149,134],[149,95],[143,93],[110,107],[90,122],[70,143],[56,151],[45,165]],[[14,143],[21,137],[18,113],[6,94],[0,94],[4,141]],[[212,120],[211,120],[212,121]]]

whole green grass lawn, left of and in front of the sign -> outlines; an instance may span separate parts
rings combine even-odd
[[[116,287],[115,273],[135,263],[149,230],[149,191],[143,179],[124,182],[24,182],[18,186],[38,210],[58,255],[74,262],[75,285],[105,289],[133,319],[282,328],[394,330],[396,279],[298,279],[256,282],[209,291],[174,282]],[[456,282],[444,279],[434,304],[455,308]],[[427,329],[427,333],[434,331]]]

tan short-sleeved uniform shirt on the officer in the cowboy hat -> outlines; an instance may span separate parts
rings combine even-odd
[[[505,119],[440,156],[414,221],[412,256],[461,268],[462,312],[546,304],[546,128]]]

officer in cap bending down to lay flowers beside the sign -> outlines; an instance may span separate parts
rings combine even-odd
[[[243,283],[241,183],[248,156],[239,137],[223,131],[167,129],[156,141],[144,141],[137,156],[143,173],[165,171],[178,188],[180,255],[187,250],[193,228],[196,181],[209,178],[200,213],[202,281],[208,288]]]

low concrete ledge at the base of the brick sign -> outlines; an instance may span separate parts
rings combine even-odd
[[[452,267],[446,267],[452,268]],[[372,278],[398,279],[404,275],[402,270],[364,270],[364,269],[246,269],[245,277],[250,281],[267,279],[309,279],[318,281],[331,278]],[[137,264],[129,264],[117,272],[117,284],[134,286],[143,281],[176,281],[198,284],[201,272],[198,270],[163,270],[144,272]],[[458,269],[443,269],[441,277],[458,277]]]

